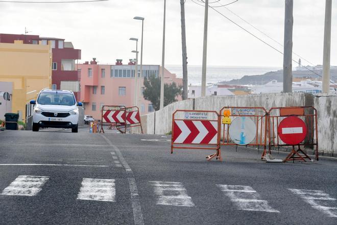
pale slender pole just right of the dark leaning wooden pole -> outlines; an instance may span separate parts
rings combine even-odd
[[[205,0],[204,48],[202,55],[201,96],[206,95],[206,59],[207,59],[208,0]]]

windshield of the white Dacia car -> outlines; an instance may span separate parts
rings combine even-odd
[[[42,105],[75,105],[74,95],[67,93],[41,93],[37,102]]]

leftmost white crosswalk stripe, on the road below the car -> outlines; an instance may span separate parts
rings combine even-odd
[[[34,196],[41,190],[42,186],[48,181],[48,176],[26,176],[21,175],[3,190],[2,195],[24,195]]]

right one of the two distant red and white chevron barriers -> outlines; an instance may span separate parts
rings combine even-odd
[[[116,125],[118,130],[124,131],[126,128],[140,126],[141,133],[143,128],[141,126],[139,108],[137,106],[127,107],[126,109],[125,123],[119,123]]]

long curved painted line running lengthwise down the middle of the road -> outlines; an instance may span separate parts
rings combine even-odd
[[[136,180],[134,178],[133,172],[132,172],[129,164],[124,159],[121,151],[119,151],[119,149],[115,145],[113,145],[111,143],[111,141],[109,139],[107,139],[104,135],[102,135],[102,137],[115,150],[119,160],[121,161],[121,163],[124,166],[124,169],[127,173],[128,181],[129,181],[129,187],[130,187],[130,193],[131,193],[131,205],[132,205],[132,211],[133,211],[133,220],[135,221],[135,225],[144,225],[143,214],[141,213],[141,207],[140,207],[140,201],[139,201],[139,196],[138,196]]]

